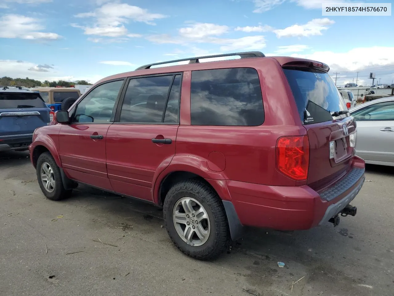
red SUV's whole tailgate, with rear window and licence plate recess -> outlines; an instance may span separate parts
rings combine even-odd
[[[356,124],[326,72],[307,67],[284,67],[284,73],[309,137],[307,183],[320,190],[351,170],[355,148],[351,147],[349,135],[355,133]],[[330,146],[334,150],[331,155]]]

